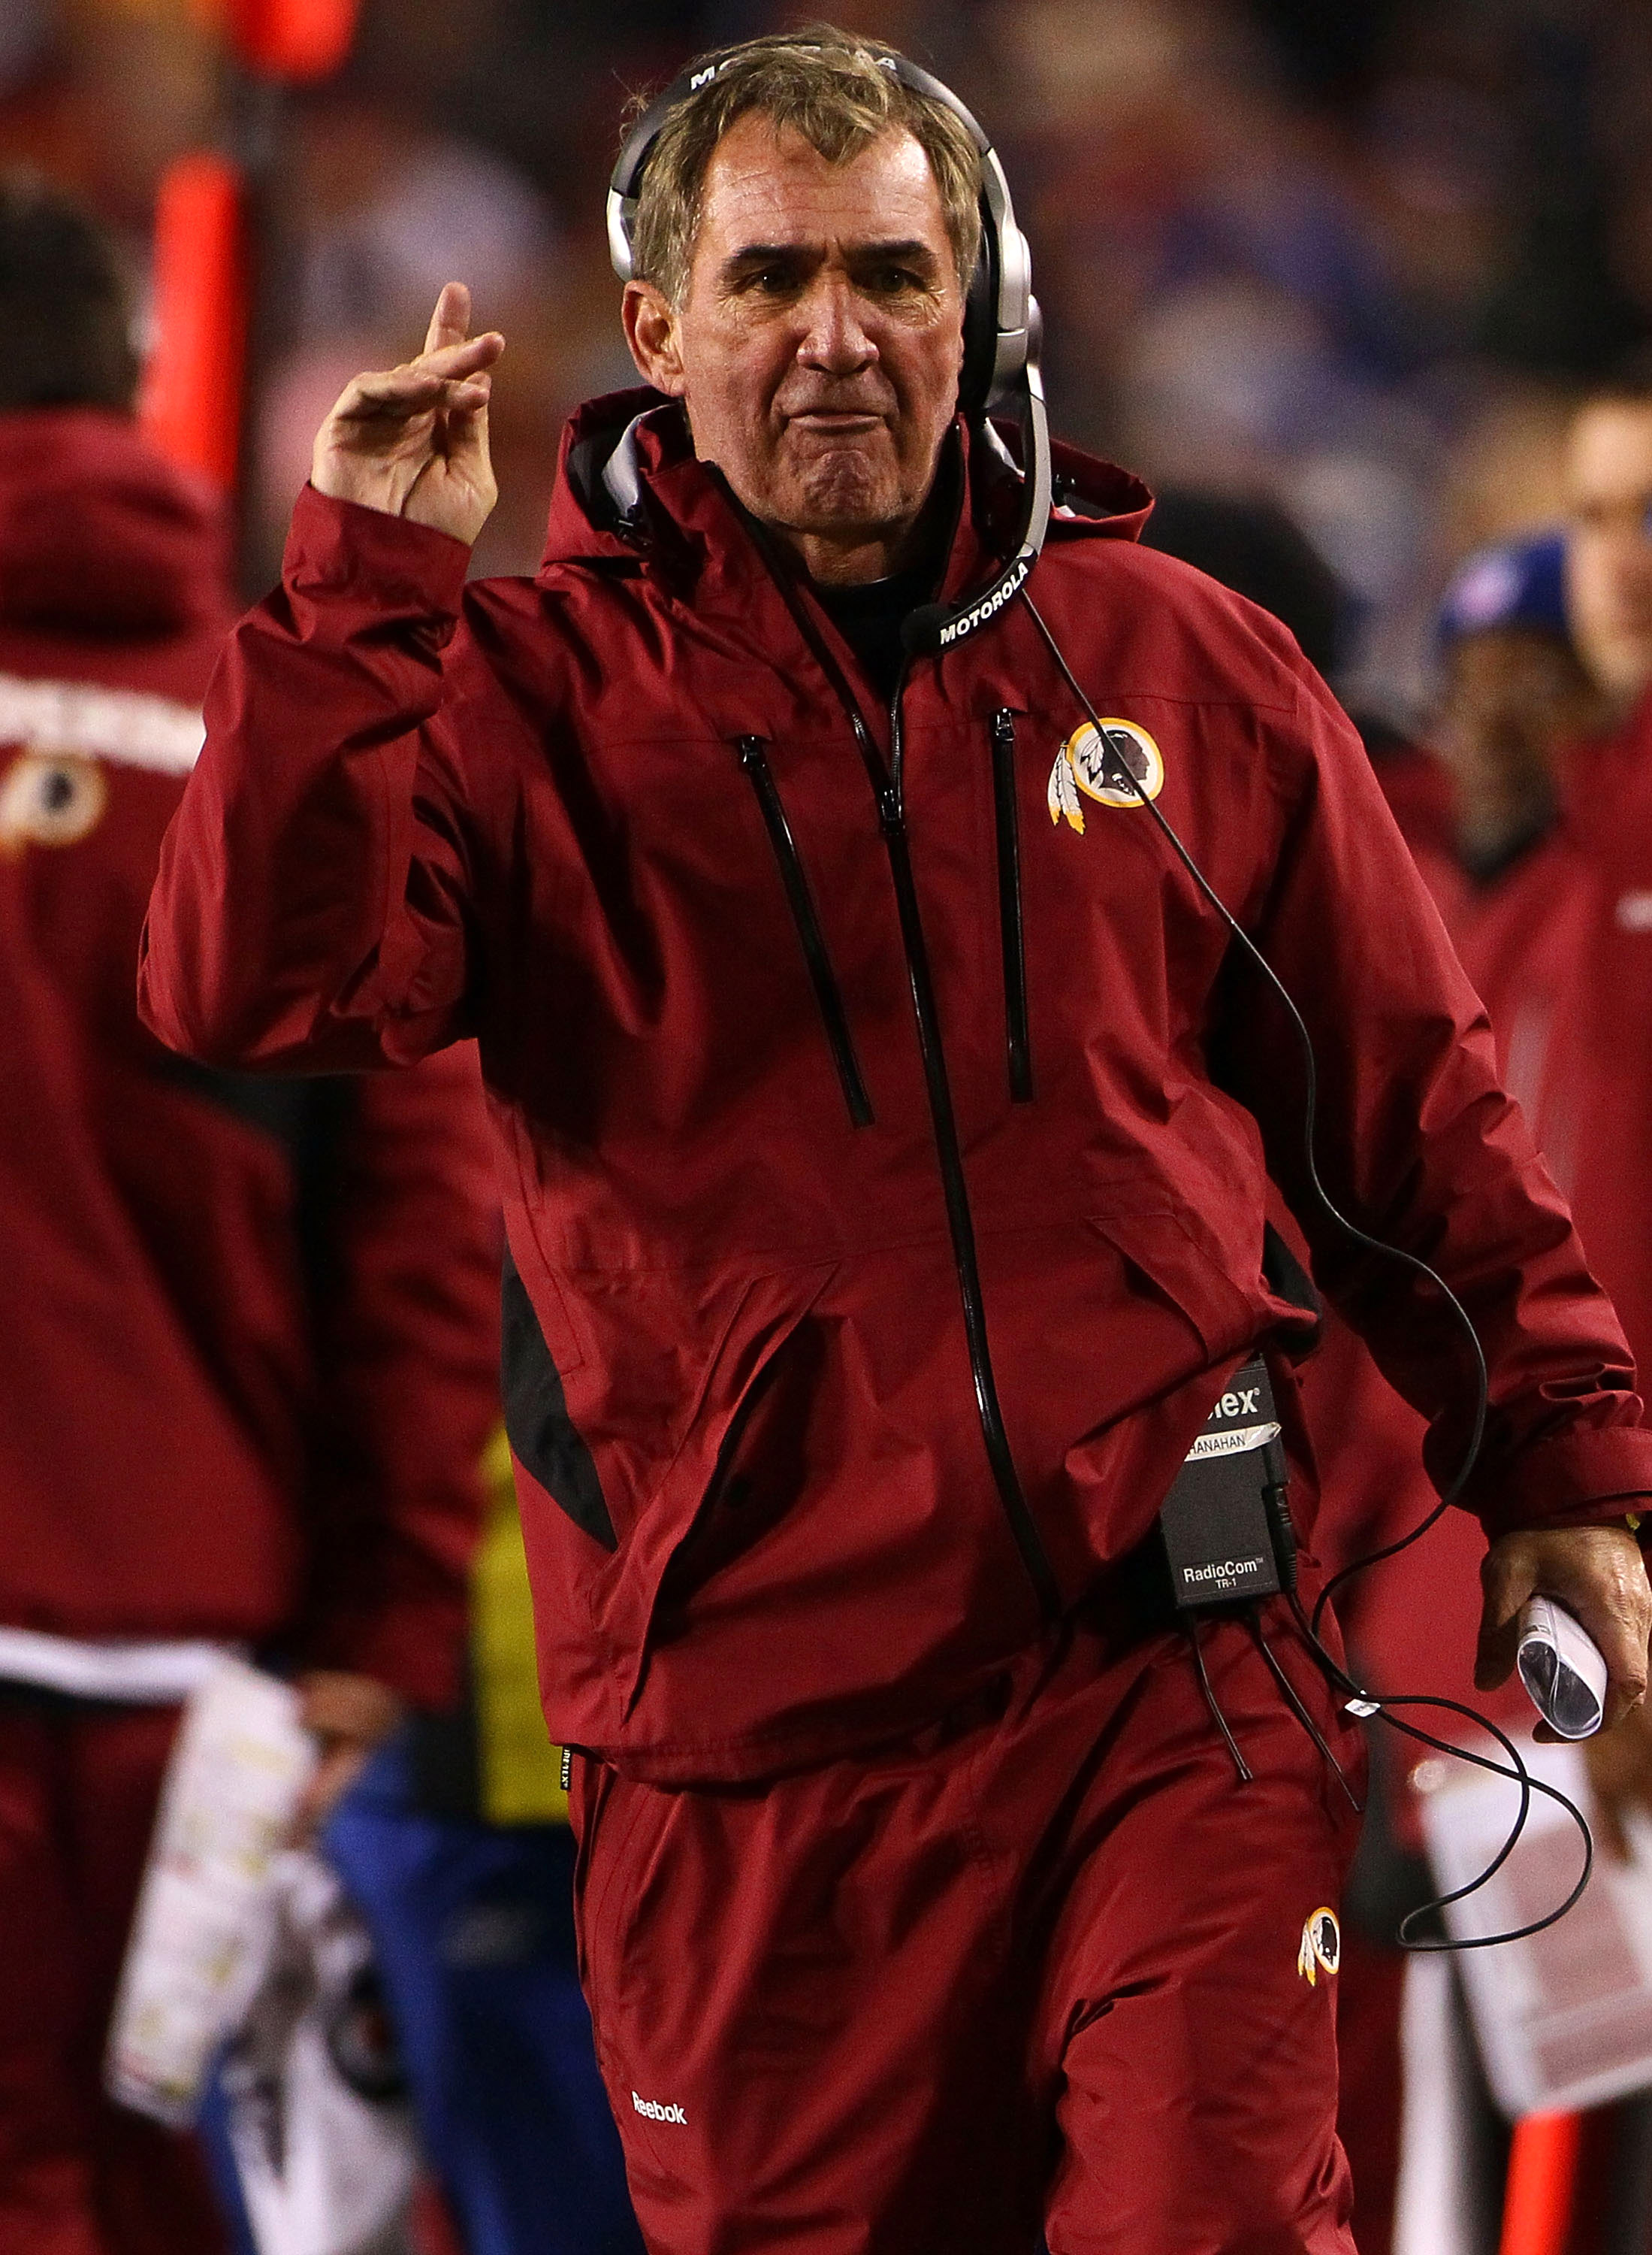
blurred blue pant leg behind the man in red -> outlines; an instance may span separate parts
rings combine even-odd
[[[568,1829],[424,1815],[388,1750],[327,1851],[372,1928],[469,2255],[640,2255],[579,1991]]]

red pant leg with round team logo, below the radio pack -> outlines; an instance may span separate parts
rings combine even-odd
[[[1359,1784],[1359,1734],[1280,1615],[1278,1655]],[[1032,1899],[1050,2255],[1352,2255],[1334,1905],[1357,1818],[1244,1624],[1201,1635],[1249,1784],[1174,1633],[1127,1662],[1102,1639],[1089,1666],[1080,1637],[1012,1718],[1019,1772],[1073,1779]],[[1007,1777],[989,1811],[1014,1806]]]

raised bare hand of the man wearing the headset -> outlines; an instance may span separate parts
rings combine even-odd
[[[498,329],[471,336],[471,293],[448,282],[417,361],[354,377],[316,433],[311,485],[473,541],[498,501],[487,453]]]

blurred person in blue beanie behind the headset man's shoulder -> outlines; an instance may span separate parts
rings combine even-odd
[[[1546,1058],[1587,900],[1587,864],[1564,821],[1557,764],[1562,746],[1600,717],[1566,627],[1562,537],[1506,541],[1469,557],[1440,600],[1436,638],[1436,749],[1413,749],[1409,764],[1431,760],[1449,785],[1447,821],[1418,823],[1413,789],[1397,798],[1395,814],[1490,1010],[1503,1085],[1539,1128],[1553,1164],[1548,1134],[1560,1132],[1560,1118],[1544,1107]],[[1386,782],[1382,760],[1377,778]],[[1341,1567],[1400,1540],[1433,1509],[1424,1427],[1336,1319],[1303,1385],[1321,1479],[1336,1504],[1327,1513],[1327,1563]],[[1440,1691],[1521,1727],[1530,1712],[1515,1684],[1474,1689],[1481,1556],[1478,1527],[1451,1511],[1422,1542],[1350,1581],[1339,1612],[1357,1669],[1379,1691]],[[1433,1892],[1409,1790],[1415,1759],[1395,1759],[1386,1734],[1375,1752],[1339,1996],[1339,2133],[1355,2172],[1361,2255],[1386,2255],[1393,2235],[1404,2090],[1404,1953],[1395,1928]]]

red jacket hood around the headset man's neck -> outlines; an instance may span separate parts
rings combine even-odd
[[[1019,476],[1003,444],[974,442],[962,417],[958,442],[969,462],[978,530],[987,548],[1007,552],[1016,523]],[[638,388],[588,399],[568,419],[550,498],[541,571],[581,559],[656,555],[683,546],[676,507],[663,503],[656,480],[692,465],[687,422],[674,399]],[[1138,539],[1154,496],[1127,469],[1057,444],[1050,539]],[[708,476],[714,476],[708,467]],[[676,485],[676,480],[674,480]]]

